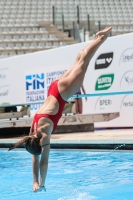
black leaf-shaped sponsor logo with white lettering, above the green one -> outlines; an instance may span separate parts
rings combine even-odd
[[[95,62],[95,69],[104,69],[109,67],[113,60],[113,52],[104,53],[98,56]]]

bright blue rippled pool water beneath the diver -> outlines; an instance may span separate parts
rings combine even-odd
[[[31,155],[1,150],[0,200],[133,200],[133,153],[51,150],[47,192],[31,188]]]

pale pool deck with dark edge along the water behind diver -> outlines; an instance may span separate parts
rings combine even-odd
[[[21,138],[0,139],[0,147],[8,148]],[[79,132],[53,134],[51,148],[70,149],[120,149],[133,150],[133,129],[96,130],[94,132]]]

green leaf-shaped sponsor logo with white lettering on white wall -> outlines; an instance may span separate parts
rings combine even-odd
[[[101,75],[95,84],[95,90],[108,90],[114,81],[114,74]]]

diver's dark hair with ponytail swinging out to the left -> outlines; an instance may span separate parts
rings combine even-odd
[[[16,142],[15,144],[11,145],[8,151],[19,147],[20,145],[25,143],[26,150],[33,154],[33,155],[40,155],[41,154],[41,146],[40,146],[40,139],[35,138],[34,136],[26,136],[22,140]]]

